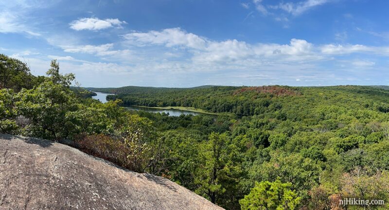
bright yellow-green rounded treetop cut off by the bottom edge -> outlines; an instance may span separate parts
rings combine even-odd
[[[239,201],[242,210],[295,210],[301,197],[291,190],[291,183],[262,181]]]

